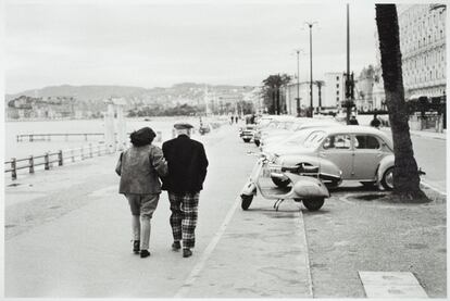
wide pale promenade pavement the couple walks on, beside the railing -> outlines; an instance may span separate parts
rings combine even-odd
[[[5,297],[309,297],[298,208],[275,212],[255,200],[242,212],[251,146],[236,126],[198,138],[210,167],[191,258],[170,249],[165,192],[152,220],[151,256],[132,253],[129,209],[114,173],[118,154],[95,158],[5,187]]]

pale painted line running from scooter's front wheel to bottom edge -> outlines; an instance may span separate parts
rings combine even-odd
[[[217,246],[218,241],[221,240],[223,234],[225,233],[226,227],[228,226],[229,221],[232,220],[233,215],[235,214],[236,209],[239,205],[240,197],[237,197],[235,203],[229,209],[228,213],[225,216],[224,222],[222,223],[221,227],[218,228],[217,233],[214,235],[210,243],[208,244],[207,249],[204,249],[203,253],[200,256],[199,262],[193,266],[192,271],[190,272],[189,276],[187,277],[185,284],[182,288],[175,293],[174,298],[184,298],[188,292],[189,288],[193,285],[197,278],[200,275],[200,272],[203,269],[204,264],[211,256],[212,252],[214,251],[215,247]]]

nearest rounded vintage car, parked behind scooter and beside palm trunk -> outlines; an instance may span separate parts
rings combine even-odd
[[[355,180],[364,186],[393,188],[393,147],[391,139],[373,127],[342,125],[312,130],[297,147],[273,150],[272,180],[286,186],[287,179],[277,177],[280,166],[320,166],[320,176],[328,187],[342,180]]]

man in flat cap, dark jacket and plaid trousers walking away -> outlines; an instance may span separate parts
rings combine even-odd
[[[172,250],[180,250],[183,242],[183,256],[189,258],[196,244],[198,204],[207,177],[208,159],[203,145],[190,139],[192,125],[178,123],[174,127],[177,137],[165,141],[162,147],[168,166],[162,189],[167,190],[171,203]]]

